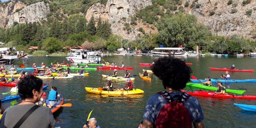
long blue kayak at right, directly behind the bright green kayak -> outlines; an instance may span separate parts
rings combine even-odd
[[[206,82],[207,80],[204,79],[190,79],[193,83],[201,83],[201,81]],[[232,82],[256,82],[256,79],[243,79],[243,80],[238,80],[238,79],[232,79],[232,80],[225,80],[225,79],[211,79],[211,82],[217,82],[221,81],[223,83],[232,83]]]

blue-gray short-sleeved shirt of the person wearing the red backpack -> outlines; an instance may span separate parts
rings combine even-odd
[[[182,91],[175,91],[170,93],[172,97],[174,95],[181,94]],[[177,98],[174,98],[174,100],[177,100]],[[161,94],[152,95],[147,101],[143,118],[145,120],[155,123],[157,115],[159,114],[162,107],[165,106],[167,103],[168,102]],[[189,99],[185,102],[184,106],[189,110],[192,122],[202,122],[204,120],[204,115],[200,103],[195,97],[189,97]]]

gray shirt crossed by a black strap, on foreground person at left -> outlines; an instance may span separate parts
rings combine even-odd
[[[22,118],[22,116],[29,111],[35,104],[16,105],[7,108],[0,120],[1,128],[12,128]],[[49,128],[56,123],[51,110],[48,107],[41,106],[36,109],[31,115],[23,122],[20,128],[40,127]]]

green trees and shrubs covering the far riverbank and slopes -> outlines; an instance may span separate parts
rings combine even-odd
[[[35,1],[37,0],[27,1],[27,3]],[[96,1],[80,2],[85,2],[83,4],[89,6]],[[100,2],[106,3],[106,0]],[[195,15],[185,15],[181,8],[179,8],[179,12],[171,13],[171,10],[177,10],[177,6],[181,3],[180,0],[153,0],[152,3],[152,5],[138,10],[131,20],[123,18],[127,22],[124,27],[127,33],[130,32],[132,25],[137,24],[138,20],[142,20],[147,26],[159,31],[157,34],[145,33],[145,28],[139,28],[138,31],[141,33],[138,33],[139,37],[135,40],[123,39],[120,35],[112,34],[111,23],[102,21],[100,18],[95,27],[93,17],[87,21],[84,15],[77,14],[77,12],[83,12],[77,9],[77,6],[72,6],[74,8],[70,9],[70,3],[67,0],[62,2],[54,0],[49,2],[51,12],[47,15],[47,19],[42,20],[41,23],[14,23],[8,29],[0,28],[0,41],[5,43],[5,47],[17,47],[17,50],[23,50],[30,54],[33,51],[29,51],[28,47],[38,46],[40,52],[33,53],[37,55],[44,55],[46,52],[47,55],[63,52],[63,46],[74,48],[77,45],[90,50],[107,49],[110,51],[116,51],[121,47],[131,50],[134,50],[135,47],[140,50],[152,50],[159,45],[164,47],[182,45],[186,47],[187,51],[195,50],[196,46],[200,46],[203,47],[202,53],[232,54],[241,51],[255,51],[255,41],[244,39],[238,35],[232,37],[212,35],[207,26],[198,23]],[[159,5],[163,8],[160,8]],[[60,7],[63,9],[63,13],[68,14],[69,17],[60,13]],[[186,5],[185,8],[189,8],[189,5]],[[251,33],[256,35],[256,30]],[[41,50],[46,52],[41,52]]]

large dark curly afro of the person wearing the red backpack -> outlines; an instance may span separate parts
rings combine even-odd
[[[173,56],[164,56],[155,61],[151,67],[152,72],[162,80],[163,87],[183,89],[190,81],[192,70],[186,63]]]

